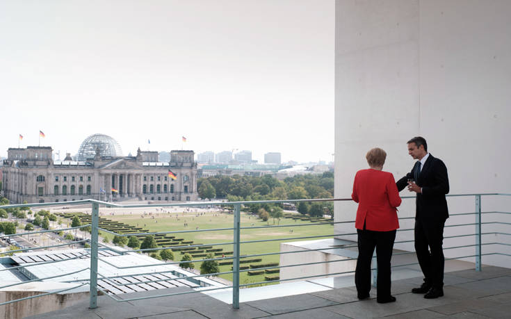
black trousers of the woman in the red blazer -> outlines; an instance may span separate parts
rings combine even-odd
[[[355,286],[358,295],[367,295],[371,291],[371,259],[376,248],[376,261],[378,263],[378,280],[376,293],[378,299],[391,295],[390,260],[392,248],[396,239],[396,230],[370,231],[357,229],[359,256],[355,269]]]

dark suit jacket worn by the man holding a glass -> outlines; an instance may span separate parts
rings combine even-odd
[[[415,163],[412,172],[397,181],[396,186],[399,191],[408,185],[407,179],[414,178],[417,165],[419,161]],[[419,174],[419,180],[415,183],[422,188],[422,193],[416,195],[415,219],[424,222],[446,220],[449,217],[446,201],[446,194],[449,193],[449,179],[444,162],[430,154]]]

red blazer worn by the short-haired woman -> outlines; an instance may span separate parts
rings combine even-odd
[[[399,228],[398,214],[401,204],[394,175],[381,170],[359,170],[353,182],[351,198],[359,203],[355,228],[372,231],[392,231]]]

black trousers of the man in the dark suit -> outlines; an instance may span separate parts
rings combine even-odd
[[[415,220],[415,252],[424,275],[424,282],[434,288],[444,287],[445,220]]]

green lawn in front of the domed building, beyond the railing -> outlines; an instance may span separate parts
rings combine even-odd
[[[216,228],[232,228],[234,223],[234,216],[229,213],[203,213],[198,215],[192,212],[180,212],[180,213],[160,213],[153,215],[104,215],[104,218],[115,220],[117,222],[124,222],[131,224],[136,227],[143,227],[149,229],[149,231],[180,231],[180,230],[194,230],[196,227],[199,229],[216,229]],[[154,218],[153,218],[154,217]],[[184,224],[187,224],[185,227]],[[241,227],[257,227],[257,226],[273,226],[273,219],[270,218],[268,222],[246,213],[241,213]],[[275,224],[278,221],[275,220]],[[291,218],[282,218],[280,224],[311,224],[309,221],[293,220]],[[292,232],[291,232],[292,230]],[[263,254],[270,252],[279,252],[280,243],[298,241],[298,240],[286,240],[285,238],[291,237],[302,237],[302,236],[319,236],[334,234],[334,227],[332,225],[318,225],[309,227],[282,227],[282,228],[260,228],[260,229],[242,229],[241,240],[263,240],[263,239],[282,239],[271,242],[263,243],[246,243],[241,244],[241,255],[248,254]],[[233,241],[233,231],[207,231],[207,232],[194,232],[194,233],[183,233],[177,234],[179,238],[185,238],[186,240],[193,240],[196,244],[218,244],[227,243]],[[113,236],[108,235],[108,239],[111,241]],[[321,239],[321,238],[318,238]],[[222,248],[225,252],[232,252],[232,245],[213,245],[213,248]],[[180,252],[174,252],[175,261],[180,261],[183,254]],[[232,255],[229,255],[232,256]],[[270,255],[262,257],[260,263],[278,263],[279,255]],[[251,258],[251,259],[252,259]],[[202,258],[195,258],[202,259]],[[249,265],[241,264],[241,265]],[[231,271],[232,265],[221,265],[220,272]],[[195,269],[200,269],[200,263],[195,263]],[[266,276],[275,276],[277,274],[266,274]],[[248,272],[240,273],[240,283],[249,284],[258,281],[264,281],[263,275],[248,275]],[[232,274],[221,275],[220,277],[232,280]]]

